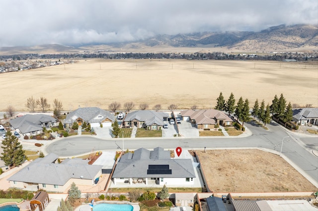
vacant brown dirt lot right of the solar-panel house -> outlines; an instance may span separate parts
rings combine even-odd
[[[302,192],[316,187],[279,156],[260,150],[196,151],[213,192]]]

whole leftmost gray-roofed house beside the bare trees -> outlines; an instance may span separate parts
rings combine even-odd
[[[51,128],[58,125],[58,121],[46,114],[26,114],[10,121],[11,128],[23,136],[39,135],[43,127]]]

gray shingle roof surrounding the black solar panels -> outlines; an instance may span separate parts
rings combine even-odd
[[[171,174],[147,174],[149,165],[169,165]],[[140,148],[122,156],[113,174],[113,178],[120,177],[195,178],[195,173],[191,159],[171,159],[169,151],[158,147],[154,151]]]

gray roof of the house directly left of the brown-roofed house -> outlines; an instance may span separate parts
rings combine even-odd
[[[168,117],[168,114],[165,112],[158,112],[153,110],[136,110],[128,113],[124,121],[129,122],[137,119],[138,121],[144,121],[146,125],[163,125],[164,117]]]

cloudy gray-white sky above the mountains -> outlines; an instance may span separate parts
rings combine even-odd
[[[318,0],[0,0],[0,47],[317,24]]]

